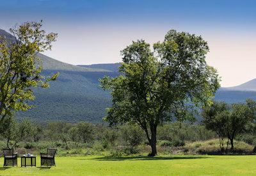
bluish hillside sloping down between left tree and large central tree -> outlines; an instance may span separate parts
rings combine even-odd
[[[39,121],[102,122],[105,109],[111,105],[111,98],[108,92],[104,92],[99,87],[98,80],[106,75],[115,77],[117,73],[62,64],[47,56],[44,56],[42,61],[44,66],[51,66],[43,71],[45,76],[50,76],[55,72],[60,72],[60,76],[57,81],[51,83],[50,88],[36,89],[36,99],[30,102],[35,105],[35,108],[19,112],[17,117],[29,117]]]

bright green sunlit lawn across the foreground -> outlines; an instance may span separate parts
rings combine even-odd
[[[40,157],[27,168],[3,160],[0,175],[256,175],[256,156],[56,157],[52,168],[40,168]]]

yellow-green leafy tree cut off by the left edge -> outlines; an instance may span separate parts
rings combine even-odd
[[[38,52],[51,49],[56,33],[45,33],[41,22],[25,22],[10,29],[11,38],[0,36],[0,125],[15,111],[31,108],[33,88],[49,86],[58,74],[45,78]]]

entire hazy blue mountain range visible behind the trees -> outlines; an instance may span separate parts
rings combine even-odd
[[[13,40],[13,36],[0,29],[0,35]],[[38,54],[42,60],[44,76],[60,72],[57,81],[51,82],[47,89],[37,88],[35,107],[29,111],[18,112],[17,118],[33,118],[39,122],[65,120],[67,122],[102,122],[105,109],[111,106],[109,92],[99,87],[103,76],[118,76],[119,63],[70,65]],[[256,100],[256,79],[230,88],[220,88],[215,100],[228,103],[243,102],[245,99]]]

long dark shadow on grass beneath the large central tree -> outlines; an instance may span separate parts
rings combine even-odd
[[[113,156],[104,156],[92,158],[98,161],[125,161],[125,160],[165,160],[165,159],[205,159],[207,156],[124,156],[124,157],[113,157]]]

